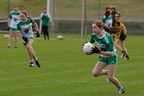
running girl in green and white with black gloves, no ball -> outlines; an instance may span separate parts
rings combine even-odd
[[[34,66],[33,59],[35,60],[36,65],[40,67],[38,58],[36,57],[34,49],[32,47],[32,44],[34,42],[34,33],[32,27],[34,27],[34,29],[37,31],[36,35],[37,37],[39,37],[40,34],[38,25],[35,21],[28,17],[28,13],[26,11],[22,11],[20,13],[20,19],[21,20],[17,23],[17,34],[22,38],[22,42],[26,46],[26,49],[28,51],[28,55],[30,58],[29,67]]]

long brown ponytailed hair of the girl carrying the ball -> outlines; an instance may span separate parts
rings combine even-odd
[[[103,27],[104,30],[109,34],[117,34],[122,30],[120,26],[107,27],[103,22],[99,20],[94,21],[93,24],[96,24],[99,28]]]

